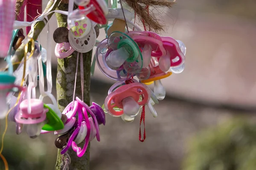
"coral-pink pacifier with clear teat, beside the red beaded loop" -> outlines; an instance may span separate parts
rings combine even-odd
[[[142,100],[140,100],[140,96]],[[140,106],[147,104],[150,99],[150,90],[142,83],[134,82],[122,85],[105,99],[105,109],[112,116],[136,116]],[[115,111],[114,107],[121,108],[122,111]]]

